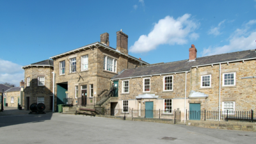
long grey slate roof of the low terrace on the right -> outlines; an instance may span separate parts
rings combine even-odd
[[[121,74],[118,74],[112,79],[120,79],[125,77],[138,77],[138,76],[150,76],[156,74],[166,74],[166,73],[174,73],[174,72],[184,72],[189,71],[191,67],[200,66],[200,65],[210,65],[214,63],[221,63],[226,61],[236,61],[236,60],[244,60],[244,59],[256,59],[256,51],[248,50],[248,51],[238,51],[238,52],[230,52],[225,54],[218,54],[213,56],[204,56],[200,58],[196,58],[195,61],[182,60],[182,61],[174,61],[170,63],[159,63],[156,65],[145,65],[142,67],[136,67],[131,69],[124,70]]]

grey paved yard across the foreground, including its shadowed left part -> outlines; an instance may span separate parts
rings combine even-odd
[[[256,132],[5,109],[0,143],[255,143]],[[163,140],[162,138],[176,138]]]

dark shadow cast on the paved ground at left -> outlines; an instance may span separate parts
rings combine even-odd
[[[29,115],[28,113],[29,111],[24,109],[19,110],[17,108],[4,107],[4,111],[0,112],[0,127],[44,122],[45,120],[51,120],[52,117],[52,112],[39,115]]]

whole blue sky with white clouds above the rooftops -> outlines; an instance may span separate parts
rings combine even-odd
[[[148,63],[256,49],[256,1],[0,1],[0,83],[19,85],[20,67],[100,41],[129,36]]]

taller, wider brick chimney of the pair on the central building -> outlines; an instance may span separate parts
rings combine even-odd
[[[116,32],[116,50],[128,54],[128,35],[122,29]]]

